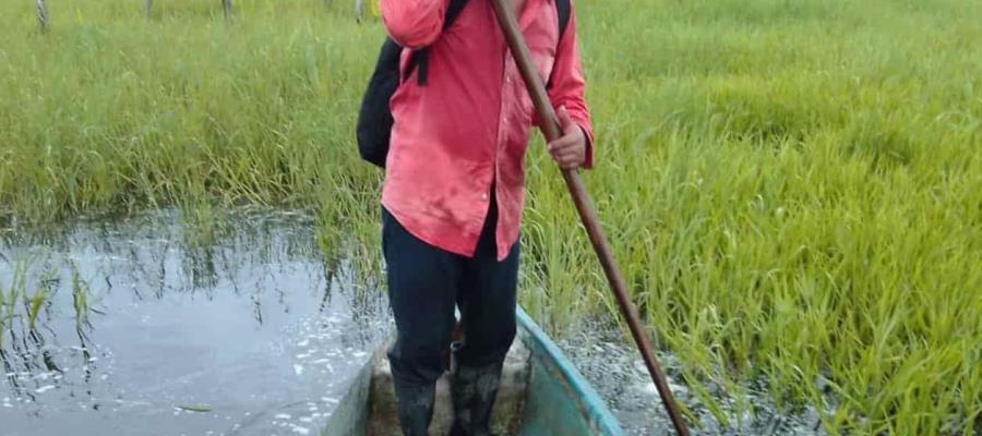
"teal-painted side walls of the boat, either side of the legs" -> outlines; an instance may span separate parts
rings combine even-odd
[[[623,431],[594,390],[554,342],[520,308],[519,334],[529,351],[518,436],[622,436]],[[370,419],[371,365],[355,378],[321,432],[328,436],[367,435]],[[442,435],[433,435],[442,436]]]

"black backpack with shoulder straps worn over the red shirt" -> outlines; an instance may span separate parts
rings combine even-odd
[[[446,31],[468,0],[451,0],[443,20],[443,29]],[[570,24],[570,0],[555,0],[555,9],[559,15],[560,38]],[[369,80],[368,90],[361,100],[361,109],[358,111],[358,126],[356,135],[358,138],[358,153],[361,158],[374,164],[378,167],[385,168],[385,157],[388,155],[388,142],[392,136],[392,124],[394,122],[392,112],[388,110],[388,101],[392,95],[403,80],[409,77],[415,69],[419,69],[416,80],[419,86],[426,86],[429,75],[430,49],[424,47],[412,51],[409,58],[409,64],[406,68],[403,77],[399,77],[399,55],[403,47],[396,44],[392,38],[386,37],[382,44],[382,50],[379,53],[379,60],[375,63],[375,71]]]

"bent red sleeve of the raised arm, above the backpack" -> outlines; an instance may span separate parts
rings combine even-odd
[[[385,31],[398,45],[426,47],[440,37],[450,0],[379,0]]]

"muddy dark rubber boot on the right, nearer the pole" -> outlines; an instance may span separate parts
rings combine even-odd
[[[454,426],[451,436],[491,436],[491,409],[501,383],[501,363],[459,365],[451,378]]]

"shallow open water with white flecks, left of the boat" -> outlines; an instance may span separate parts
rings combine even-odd
[[[238,214],[208,246],[178,218],[0,233],[0,289],[48,293],[34,329],[19,298],[0,330],[0,433],[319,434],[387,328],[383,293],[325,268],[303,216]]]

